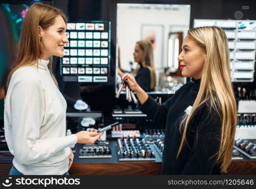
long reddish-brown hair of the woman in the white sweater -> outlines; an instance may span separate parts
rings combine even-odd
[[[43,46],[40,42],[39,29],[41,26],[43,30],[47,30],[49,26],[54,24],[56,16],[61,15],[65,22],[67,22],[66,16],[60,9],[52,6],[35,3],[33,4],[26,13],[25,20],[21,29],[21,40],[18,47],[16,60],[13,64],[13,68],[8,75],[6,82],[6,88],[9,86],[9,81],[13,73],[23,66],[31,66],[37,63],[38,59],[43,57]],[[52,72],[52,57],[50,57],[50,63],[48,64],[50,75],[57,85],[57,80]]]

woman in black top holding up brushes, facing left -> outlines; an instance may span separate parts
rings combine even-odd
[[[158,105],[136,83],[141,110],[165,125],[164,175],[219,175],[231,163],[236,128],[236,102],[230,79],[226,34],[221,28],[189,30],[178,60],[182,76],[191,81]]]

